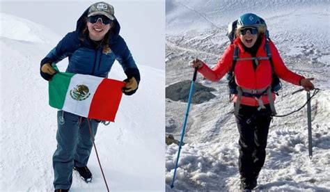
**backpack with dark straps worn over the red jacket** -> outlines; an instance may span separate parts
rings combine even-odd
[[[262,24],[265,24],[265,20],[260,18]],[[236,35],[235,35],[235,31],[237,29],[237,20],[235,20],[234,22],[230,23],[228,25],[228,32],[227,32],[227,37],[230,40],[230,44],[233,44]],[[266,30],[265,31],[265,38],[266,38],[266,43],[265,43],[265,47],[264,49],[267,52],[267,57],[252,57],[252,58],[244,58],[242,60],[256,60],[256,62],[258,62],[259,60],[269,60],[269,62],[271,63],[272,66],[272,84],[270,85],[270,92],[275,93],[276,95],[278,95],[278,90],[280,90],[282,88],[282,83],[280,81],[280,79],[278,78],[278,76],[275,73],[274,70],[274,64],[272,61],[272,53],[270,51],[269,48],[269,42],[271,41],[269,38],[269,31]],[[245,96],[245,97],[258,97],[260,98],[262,95],[265,95],[267,93],[267,95],[270,95],[269,92],[267,90],[265,90],[263,93],[239,93],[239,86],[237,86],[236,82],[235,82],[235,75],[233,74],[233,71],[235,69],[235,65],[237,63],[237,61],[239,61],[241,59],[239,59],[239,48],[235,46],[234,48],[234,54],[233,54],[233,64],[232,67],[230,68],[230,70],[227,72],[226,75],[226,79],[228,79],[228,92],[229,92],[229,97],[231,97],[231,95],[238,95],[239,97]],[[274,109],[274,101],[270,100],[270,96],[269,96],[269,104],[271,104],[271,108],[272,108],[272,113],[275,115],[276,111]],[[238,99],[240,102],[240,98]],[[231,102],[231,99],[230,99]],[[263,106],[262,103],[259,103]],[[273,106],[272,106],[273,105]],[[239,108],[239,103],[238,106],[235,107],[235,114],[238,113],[238,108]]]

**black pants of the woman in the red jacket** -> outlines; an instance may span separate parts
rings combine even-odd
[[[265,163],[269,125],[272,120],[269,105],[258,111],[258,106],[239,106],[235,115],[239,131],[239,173],[244,182],[258,177]]]

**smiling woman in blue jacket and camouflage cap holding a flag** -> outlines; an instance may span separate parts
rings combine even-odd
[[[77,21],[77,29],[65,35],[58,45],[42,59],[40,74],[51,81],[56,70],[52,63],[68,57],[66,72],[108,77],[113,62],[123,67],[127,82],[125,95],[136,92],[140,73],[125,40],[119,35],[120,25],[114,16],[113,6],[98,2],[91,5]],[[55,191],[68,191],[72,184],[72,169],[90,182],[91,171],[87,168],[93,142],[86,118],[65,111],[58,111],[57,149],[53,155]],[[62,121],[59,121],[63,118]],[[64,123],[63,123],[64,122]],[[93,134],[97,131],[97,120],[90,120]]]

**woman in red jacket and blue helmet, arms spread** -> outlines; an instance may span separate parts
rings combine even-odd
[[[214,69],[198,58],[190,62],[191,67],[197,67],[198,72],[211,81],[219,81],[233,70],[237,93],[232,99],[239,131],[241,189],[256,187],[259,172],[265,163],[269,125],[272,115],[276,114],[272,103],[275,99],[272,92],[273,70],[284,81],[303,86],[305,90],[314,88],[312,79],[306,79],[285,67],[275,45],[267,40],[266,31],[263,19],[246,13],[237,20],[237,38],[227,47]]]

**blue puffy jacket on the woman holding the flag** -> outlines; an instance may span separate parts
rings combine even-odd
[[[81,32],[86,26],[87,13],[88,9],[78,19],[76,31],[65,35],[58,42],[58,45],[42,59],[40,67],[45,63],[58,63],[63,58],[68,57],[69,65],[66,72],[108,77],[113,62],[116,59],[123,67],[127,78],[135,77],[136,81],[139,82],[139,70],[125,40],[119,35],[120,25],[117,20],[114,21],[114,25],[109,30],[110,38],[108,45],[111,49],[109,53],[104,54],[104,45],[101,44],[96,47],[95,43],[93,44],[88,37],[81,40]],[[40,71],[40,73],[42,72]]]

